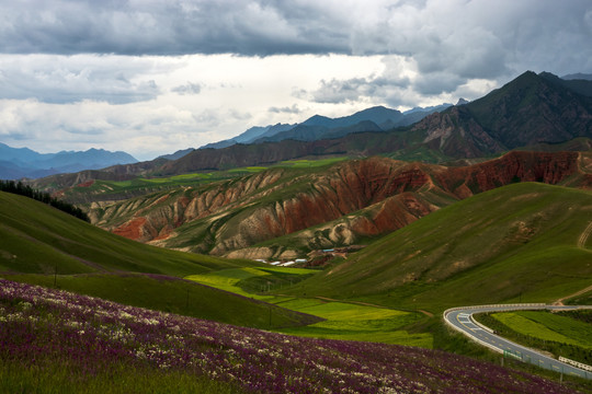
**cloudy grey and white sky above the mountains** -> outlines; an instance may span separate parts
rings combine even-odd
[[[0,0],[0,142],[150,160],[592,72],[590,0]]]

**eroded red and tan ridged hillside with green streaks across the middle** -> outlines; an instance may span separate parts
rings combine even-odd
[[[447,167],[372,158],[183,187],[95,208],[91,218],[114,233],[166,247],[234,257],[293,257],[397,230],[454,201],[511,183],[590,187],[589,161],[576,152],[512,152]]]

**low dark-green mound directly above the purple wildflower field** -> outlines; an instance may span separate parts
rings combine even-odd
[[[5,279],[59,288],[104,300],[255,328],[299,326],[317,320],[293,310],[237,297],[179,278],[141,274],[4,275]]]

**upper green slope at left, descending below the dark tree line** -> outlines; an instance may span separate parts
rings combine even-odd
[[[0,273],[138,271],[185,276],[248,263],[143,245],[41,202],[0,193]]]

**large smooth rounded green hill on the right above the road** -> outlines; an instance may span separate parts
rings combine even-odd
[[[291,290],[440,312],[549,302],[592,282],[592,193],[524,183],[433,212]]]

